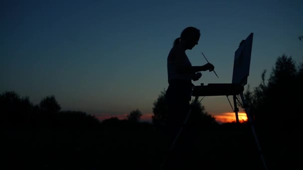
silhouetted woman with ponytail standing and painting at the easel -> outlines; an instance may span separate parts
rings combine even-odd
[[[168,88],[166,90],[165,99],[167,102],[167,132],[168,132],[168,157],[170,168],[181,168],[180,163],[184,160],[179,160],[182,155],[170,151],[171,144],[176,138],[178,131],[183,126],[184,120],[190,108],[191,92],[194,86],[191,81],[197,81],[201,78],[201,71],[213,71],[214,66],[207,63],[202,66],[192,66],[186,50],[191,50],[198,44],[200,39],[200,30],[195,27],[187,27],[182,32],[179,38],[176,38],[173,47],[169,51],[167,57],[167,74]],[[176,148],[178,150],[180,148]],[[182,148],[181,148],[182,149]],[[179,157],[180,156],[180,157]],[[188,156],[188,155],[187,155]],[[174,158],[172,158],[174,157]],[[179,157],[179,158],[177,158]],[[184,158],[184,157],[183,157]],[[173,167],[171,164],[175,165]],[[167,165],[166,165],[167,166]],[[165,168],[167,169],[167,168]]]

